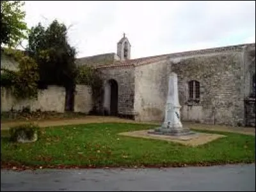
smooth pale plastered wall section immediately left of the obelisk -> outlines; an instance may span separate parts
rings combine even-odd
[[[166,60],[157,61],[135,68],[135,120],[162,120],[164,106],[168,92],[168,78],[170,73]]]

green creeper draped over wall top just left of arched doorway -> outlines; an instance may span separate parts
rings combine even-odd
[[[94,98],[100,95],[102,82],[100,72],[95,68],[87,66],[77,68],[76,83],[91,86]]]

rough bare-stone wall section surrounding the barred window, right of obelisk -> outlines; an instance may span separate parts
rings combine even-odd
[[[170,58],[171,70],[178,75],[182,120],[244,125],[243,54],[241,50]],[[198,103],[188,101],[191,80],[200,82]]]

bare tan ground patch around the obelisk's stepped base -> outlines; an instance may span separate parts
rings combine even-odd
[[[136,138],[148,138],[153,140],[165,140],[181,143],[183,145],[189,145],[192,147],[196,147],[198,145],[204,145],[205,143],[209,143],[213,140],[217,140],[218,138],[223,138],[225,135],[223,134],[209,134],[205,132],[196,132],[194,136],[167,136],[160,134],[149,134],[150,130],[141,130],[141,131],[131,131],[131,132],[120,132],[119,134],[122,136],[131,136]]]

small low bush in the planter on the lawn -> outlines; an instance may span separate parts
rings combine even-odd
[[[40,134],[40,127],[35,124],[24,124],[11,127],[9,130],[10,140],[18,141],[21,140],[35,140],[35,134],[38,137]]]

